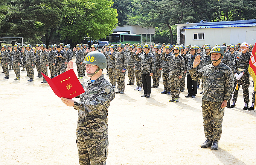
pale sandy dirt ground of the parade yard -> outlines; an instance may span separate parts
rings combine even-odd
[[[74,70],[77,74],[76,67]],[[0,165],[78,165],[78,112],[62,103],[49,85],[37,78],[36,69],[34,72],[34,82],[28,82],[25,71],[17,81],[14,71],[6,80],[0,69]],[[106,70],[108,79],[105,74]],[[252,84],[250,81],[250,100]],[[141,98],[143,91],[134,88],[125,85],[125,94],[116,94],[108,108],[107,164],[256,165],[256,112],[242,109],[242,87],[236,108],[225,108],[216,151],[200,148],[205,140],[201,86],[195,99],[185,98],[185,89],[178,103],[160,93],[162,80],[148,99]]]

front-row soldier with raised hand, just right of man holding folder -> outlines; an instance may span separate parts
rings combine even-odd
[[[123,94],[125,91],[125,70],[127,68],[127,54],[123,51],[124,45],[122,43],[117,44],[117,50],[114,54],[113,50],[109,54],[111,60],[115,60],[115,70],[116,70],[116,82],[117,82],[117,92]]]

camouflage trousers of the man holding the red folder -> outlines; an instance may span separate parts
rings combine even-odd
[[[76,136],[80,165],[106,165],[108,156],[108,139],[96,141]]]

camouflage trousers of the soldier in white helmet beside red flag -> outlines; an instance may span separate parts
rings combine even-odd
[[[250,102],[249,99],[249,86],[250,86],[250,77],[249,77],[249,73],[245,73],[240,80],[236,80],[236,77],[234,77],[234,89],[236,88],[236,83],[238,83],[238,90],[240,88],[240,85],[242,85],[243,88],[243,96],[244,96],[244,102],[248,103]],[[234,96],[233,96],[233,101],[237,101],[237,97],[238,97],[238,90],[235,90]]]

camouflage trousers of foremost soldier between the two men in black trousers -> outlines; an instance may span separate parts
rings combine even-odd
[[[171,96],[173,99],[180,98],[180,83],[181,78],[179,78],[179,75],[170,75]]]

